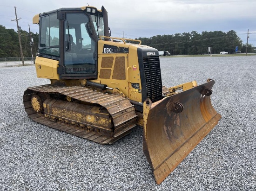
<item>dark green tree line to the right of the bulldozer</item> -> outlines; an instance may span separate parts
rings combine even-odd
[[[202,33],[192,31],[138,39],[141,40],[142,45],[154,47],[159,51],[169,51],[171,55],[208,54],[208,47],[211,47],[211,54],[219,54],[221,51],[234,53],[236,46],[242,53],[246,52],[246,44],[242,43],[233,30]],[[254,53],[254,48],[248,45],[247,52]]]

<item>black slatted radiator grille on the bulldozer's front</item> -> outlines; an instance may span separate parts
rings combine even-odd
[[[152,102],[162,99],[162,78],[159,57],[143,57],[147,98]]]

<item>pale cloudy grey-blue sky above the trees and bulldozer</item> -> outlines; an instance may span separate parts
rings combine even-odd
[[[256,46],[256,0],[1,0],[0,25],[39,32],[34,15],[63,7],[104,6],[112,37],[149,38],[196,31],[236,31],[243,44]],[[124,35],[123,35],[124,34]],[[2,35],[2,34],[0,34]]]

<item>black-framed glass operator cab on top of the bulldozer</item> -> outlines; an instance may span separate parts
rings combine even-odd
[[[60,78],[97,78],[97,41],[104,36],[101,10],[61,8],[40,14],[39,23],[38,56],[58,60]]]

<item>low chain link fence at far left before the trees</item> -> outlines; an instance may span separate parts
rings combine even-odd
[[[24,64],[34,64],[35,57],[24,57]],[[22,66],[21,57],[0,57],[0,67]]]

